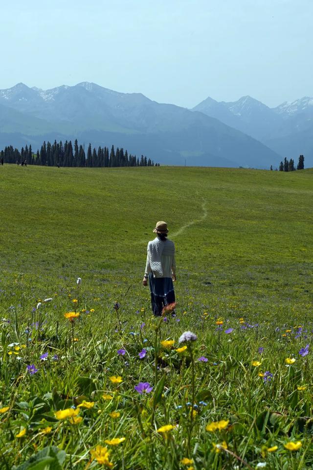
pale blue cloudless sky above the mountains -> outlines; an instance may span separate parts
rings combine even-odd
[[[90,81],[184,107],[313,96],[313,0],[11,0],[0,16],[0,89]]]

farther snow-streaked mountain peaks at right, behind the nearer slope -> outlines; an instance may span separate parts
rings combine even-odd
[[[260,101],[243,96],[235,102],[206,98],[193,108],[207,116],[261,141],[283,158],[294,160],[305,155],[305,164],[313,166],[313,98],[269,108]]]

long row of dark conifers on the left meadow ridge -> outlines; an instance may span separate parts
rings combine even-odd
[[[62,141],[59,143],[44,142],[40,150],[33,153],[31,145],[22,147],[21,151],[13,148],[12,145],[5,147],[0,152],[0,159],[5,163],[17,163],[27,165],[45,165],[45,166],[88,166],[88,167],[110,167],[110,166],[160,166],[154,161],[141,155],[136,158],[135,155],[128,154],[123,148],[100,147],[98,150],[91,148],[89,143],[87,157],[83,145],[78,145],[77,139],[74,142],[74,148],[71,141]]]

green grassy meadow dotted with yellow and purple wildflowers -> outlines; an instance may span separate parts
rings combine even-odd
[[[1,469],[313,467],[313,170],[4,165],[0,201]]]

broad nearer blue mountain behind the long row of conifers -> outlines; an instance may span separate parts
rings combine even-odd
[[[0,91],[2,115],[1,148],[23,142],[35,149],[44,140],[77,138],[124,147],[161,164],[268,168],[281,159],[232,123],[89,82],[45,91],[19,83]]]

